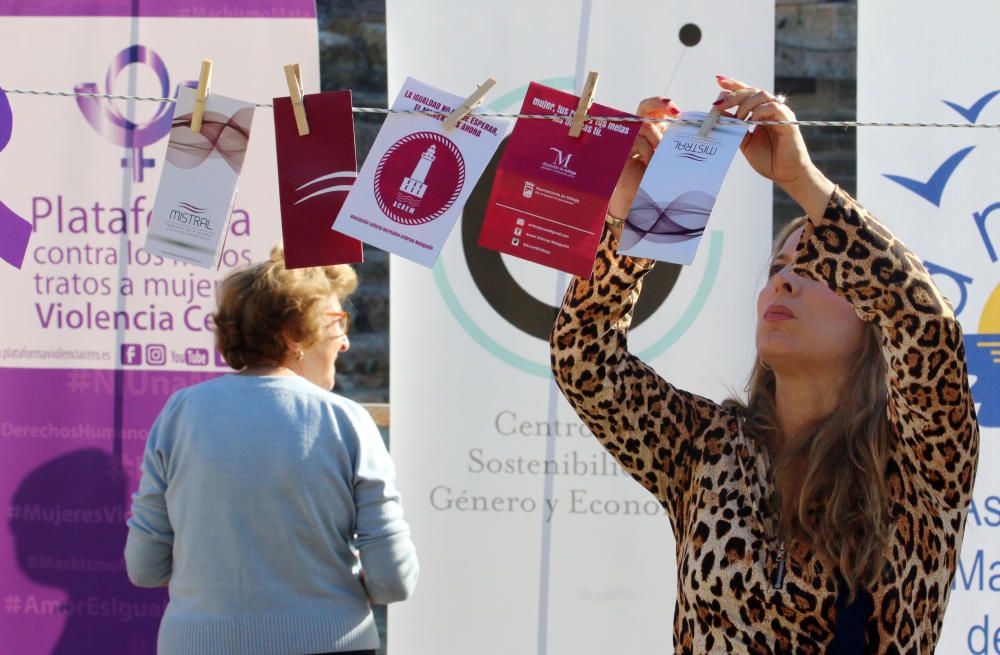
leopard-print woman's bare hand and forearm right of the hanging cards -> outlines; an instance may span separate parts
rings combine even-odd
[[[768,91],[718,77],[723,91],[715,107],[740,120],[794,121],[795,113]],[[750,166],[780,186],[810,216],[819,218],[826,209],[834,184],[809,157],[798,125],[758,125],[748,132],[740,150]]]

